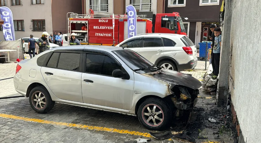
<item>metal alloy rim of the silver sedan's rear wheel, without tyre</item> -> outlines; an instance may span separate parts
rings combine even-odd
[[[32,103],[35,108],[43,109],[46,105],[45,95],[40,91],[34,92],[32,96]]]

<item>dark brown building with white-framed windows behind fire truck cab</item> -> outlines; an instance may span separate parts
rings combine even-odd
[[[219,26],[219,12],[223,0],[165,0],[164,13],[179,12],[189,39],[193,43],[210,41],[211,23]]]

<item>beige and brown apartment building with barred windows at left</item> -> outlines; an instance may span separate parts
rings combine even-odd
[[[82,0],[1,0],[0,6],[12,11],[16,39],[40,37],[44,31],[66,33],[67,12],[82,14]]]

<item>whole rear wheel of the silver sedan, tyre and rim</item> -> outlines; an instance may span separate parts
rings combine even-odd
[[[37,113],[47,113],[54,105],[55,101],[51,99],[48,90],[44,86],[34,87],[29,94],[31,107]]]

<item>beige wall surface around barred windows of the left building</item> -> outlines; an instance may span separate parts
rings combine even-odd
[[[32,19],[45,19],[46,31],[52,32],[51,0],[45,0],[41,5],[31,5],[30,0],[23,0],[23,5],[18,6],[11,6],[11,0],[7,0],[7,7],[11,9],[14,20],[24,20],[25,31],[16,31],[16,40],[29,37],[30,34],[33,34],[34,37],[41,37],[42,32],[30,30]],[[0,40],[4,40],[3,33],[0,34]]]

